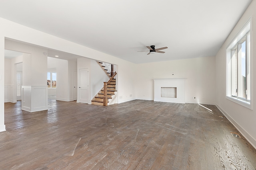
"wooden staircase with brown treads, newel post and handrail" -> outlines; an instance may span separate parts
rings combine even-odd
[[[104,82],[103,88],[96,94],[96,96],[92,99],[92,104],[108,106],[110,100],[113,99],[116,90],[116,72],[114,73],[113,64],[104,63],[98,61],[98,64],[102,67],[104,72],[110,77],[108,82]]]

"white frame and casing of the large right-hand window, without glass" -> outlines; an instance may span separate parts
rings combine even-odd
[[[252,30],[252,20],[251,18],[246,22],[246,24],[242,27],[242,29],[238,32],[238,34],[236,35],[236,37],[234,37],[234,39],[232,40],[232,42],[228,45],[228,47],[226,48],[226,98],[228,100],[231,100],[232,102],[235,102],[237,104],[240,104],[241,106],[247,107],[249,109],[253,109],[252,107],[252,70],[251,70],[251,61],[252,61],[252,33],[250,33]],[[250,100],[245,100],[242,98],[239,98],[238,95],[236,96],[232,96],[231,94],[231,68],[232,68],[232,63],[231,63],[231,59],[232,59],[232,50],[234,49],[234,47],[238,47],[240,45],[240,42],[242,41],[242,39],[244,39],[244,37],[246,37],[246,35],[249,34],[249,43],[246,46],[246,50],[247,50],[247,56],[246,56],[246,63],[247,63],[247,70],[246,70],[246,76],[247,76],[247,87],[248,87],[248,95],[250,95]],[[246,39],[247,41],[247,39]],[[249,50],[248,50],[249,48]]]

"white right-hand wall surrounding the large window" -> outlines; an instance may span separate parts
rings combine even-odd
[[[216,106],[224,113],[224,115],[235,125],[235,127],[242,133],[246,139],[256,148],[256,112],[236,104],[226,99],[226,48],[228,44],[232,42],[232,39],[240,31],[243,25],[252,17],[252,23],[254,31],[251,31],[251,78],[252,78],[252,97],[256,96],[256,62],[254,60],[256,54],[256,1],[252,1],[242,18],[239,20],[233,31],[230,33],[225,43],[222,45],[220,51],[216,55]],[[256,102],[251,97],[251,102],[256,107]]]

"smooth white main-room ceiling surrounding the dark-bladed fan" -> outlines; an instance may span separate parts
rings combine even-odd
[[[215,56],[252,0],[1,0],[0,17],[131,61]],[[146,46],[168,47],[146,55]]]

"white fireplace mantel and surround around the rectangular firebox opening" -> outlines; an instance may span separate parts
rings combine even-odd
[[[154,101],[185,103],[185,80],[186,78],[160,78],[154,80]],[[175,88],[176,97],[162,97],[161,88]]]

